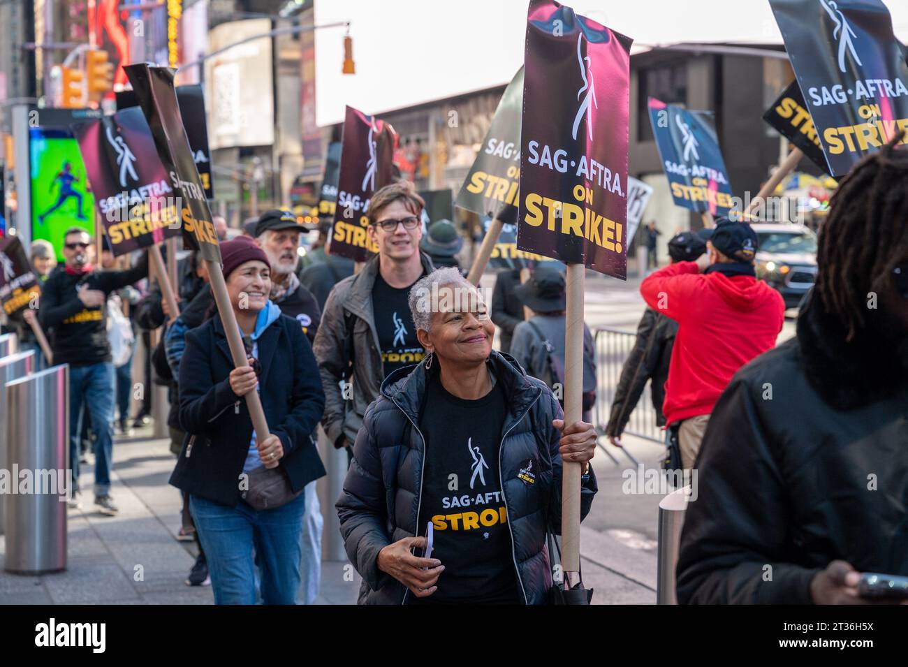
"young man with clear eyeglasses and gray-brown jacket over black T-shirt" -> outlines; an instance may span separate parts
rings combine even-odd
[[[413,284],[434,269],[419,251],[424,206],[407,181],[375,192],[367,213],[378,254],[335,285],[325,303],[313,350],[326,398],[321,425],[336,447],[356,440],[382,380],[425,354],[407,302]]]

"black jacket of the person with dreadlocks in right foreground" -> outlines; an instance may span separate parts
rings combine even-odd
[[[896,330],[878,322],[846,343],[812,298],[796,339],[738,371],[696,459],[678,602],[811,603],[834,559],[908,575],[908,337]]]

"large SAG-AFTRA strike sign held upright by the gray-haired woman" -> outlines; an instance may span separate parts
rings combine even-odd
[[[622,280],[630,44],[570,7],[529,5],[518,249]]]

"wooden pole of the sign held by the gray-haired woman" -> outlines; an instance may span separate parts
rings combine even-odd
[[[568,309],[565,319],[565,425],[583,417],[583,264],[568,264]],[[563,461],[561,472],[561,567],[580,571],[581,466]],[[567,577],[565,583],[567,584]]]

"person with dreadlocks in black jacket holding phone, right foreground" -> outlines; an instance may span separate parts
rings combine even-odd
[[[797,337],[742,368],[709,422],[680,603],[869,603],[908,575],[908,150],[840,183]]]

